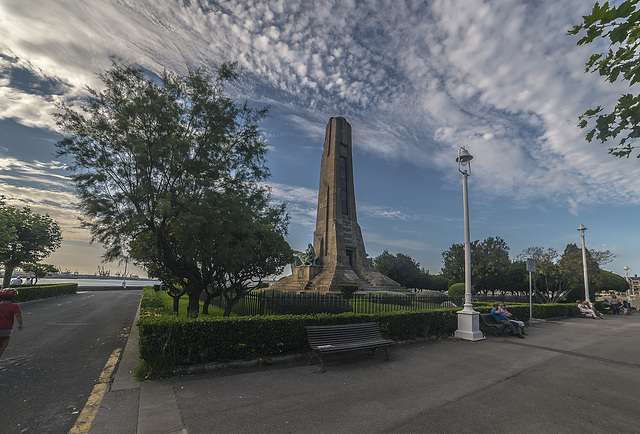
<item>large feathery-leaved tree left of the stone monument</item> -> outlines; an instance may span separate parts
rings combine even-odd
[[[100,78],[104,89],[89,89],[80,110],[61,105],[57,115],[69,133],[58,153],[71,160],[83,224],[107,247],[105,259],[126,254],[130,242],[152,243],[137,246],[135,259],[185,288],[195,317],[202,291],[220,282],[224,228],[269,215],[264,227],[284,238],[284,207],[271,207],[263,186],[267,146],[257,122],[266,109],[224,93],[236,78],[230,64],[216,77],[165,71],[159,81],[114,64]]]

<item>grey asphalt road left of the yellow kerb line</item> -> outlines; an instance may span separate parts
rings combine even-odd
[[[66,433],[114,350],[124,348],[141,290],[79,292],[22,303],[0,359],[0,432]]]

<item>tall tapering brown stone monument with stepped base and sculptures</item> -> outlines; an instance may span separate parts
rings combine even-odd
[[[364,291],[401,288],[374,268],[365,251],[356,215],[351,125],[343,117],[331,118],[325,130],[313,245],[297,253],[291,267],[291,276],[274,289],[329,292],[339,291],[340,284]]]

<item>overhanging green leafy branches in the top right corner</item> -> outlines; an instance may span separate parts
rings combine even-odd
[[[589,15],[569,31],[580,34],[578,45],[605,42],[605,52],[594,53],[586,62],[585,72],[598,72],[607,81],[629,82],[632,87],[640,81],[640,10],[638,0],[626,0],[618,6],[609,2],[596,3]],[[636,88],[637,89],[637,86]],[[595,121],[591,123],[589,121]],[[617,141],[609,153],[618,157],[629,157],[637,147],[640,137],[640,95],[635,92],[621,95],[610,113],[602,106],[591,108],[580,116],[580,127],[588,128],[586,139],[594,138],[602,143]],[[640,158],[640,154],[636,157]]]

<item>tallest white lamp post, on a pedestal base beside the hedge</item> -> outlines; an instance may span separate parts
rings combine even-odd
[[[471,303],[471,242],[469,240],[469,194],[467,178],[471,175],[473,156],[461,147],[458,150],[458,171],[462,173],[462,203],[464,208],[464,308],[458,312],[458,330],[455,337],[469,341],[484,339],[480,331],[480,313]],[[467,172],[467,168],[469,171]]]

